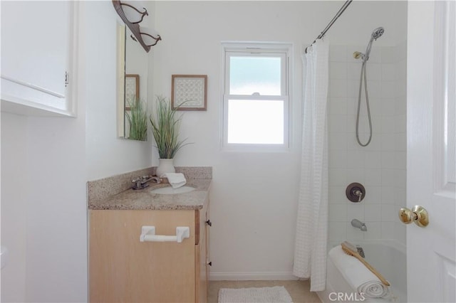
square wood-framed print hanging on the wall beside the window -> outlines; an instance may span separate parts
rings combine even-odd
[[[207,75],[172,75],[173,110],[207,110]]]

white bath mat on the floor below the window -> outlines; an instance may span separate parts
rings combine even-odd
[[[219,303],[293,303],[283,286],[221,288]]]

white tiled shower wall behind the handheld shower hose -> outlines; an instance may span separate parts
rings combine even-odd
[[[367,65],[373,137],[367,147],[356,142],[361,59],[353,52],[366,46],[331,46],[329,85],[329,245],[343,240],[390,239],[405,245],[406,180],[406,42],[395,47],[373,44]],[[361,100],[360,137],[368,139],[366,101]],[[361,203],[346,198],[346,186],[363,184]],[[357,218],[368,230],[351,226]]]

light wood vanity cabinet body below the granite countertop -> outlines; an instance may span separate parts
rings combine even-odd
[[[207,302],[209,201],[199,210],[89,210],[90,302]],[[189,226],[190,238],[140,242]]]

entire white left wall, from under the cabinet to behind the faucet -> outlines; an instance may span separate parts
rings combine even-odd
[[[150,142],[116,137],[113,4],[78,6],[78,117],[1,113],[1,302],[86,302],[86,182],[151,163]]]

